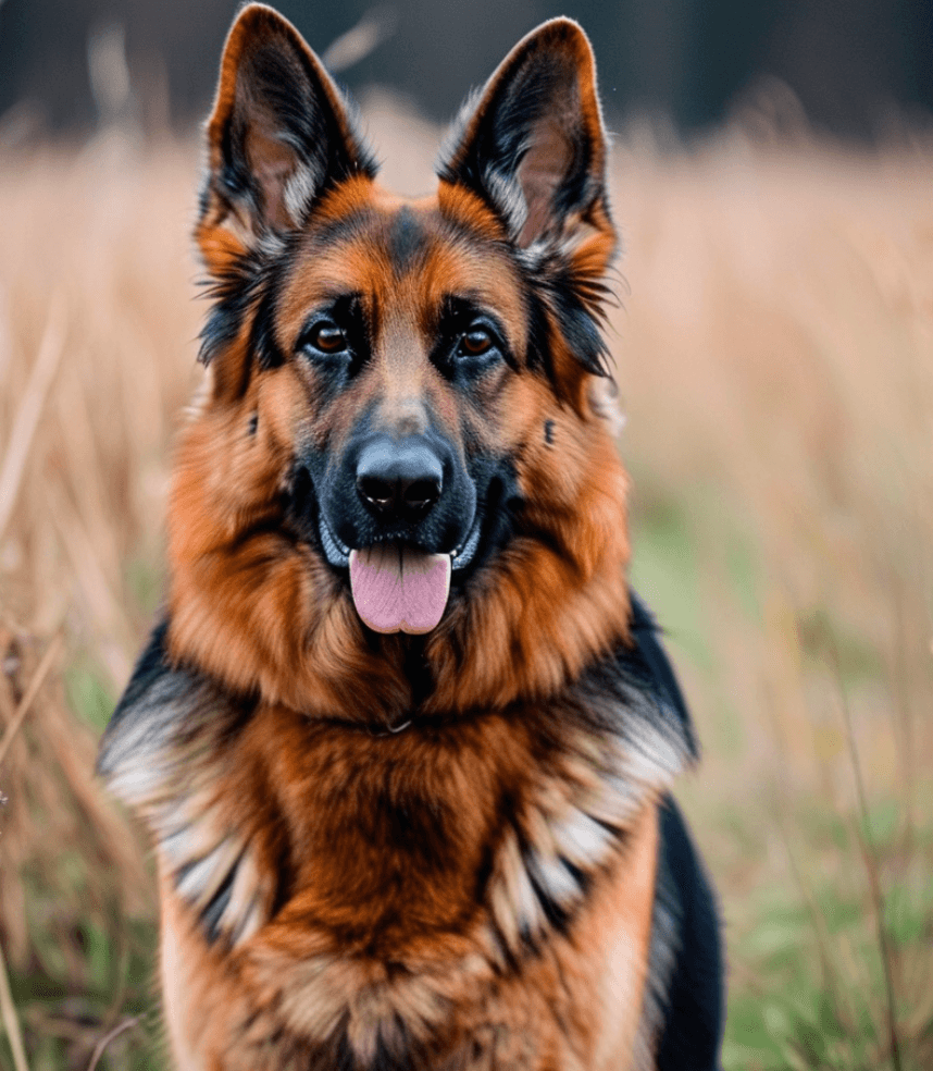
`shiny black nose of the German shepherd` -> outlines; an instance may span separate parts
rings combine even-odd
[[[357,461],[357,493],[382,520],[420,520],[443,485],[440,458],[421,440],[380,438],[363,447]]]

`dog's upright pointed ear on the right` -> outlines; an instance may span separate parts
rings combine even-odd
[[[614,231],[589,41],[570,19],[528,34],[468,102],[438,171],[478,194],[524,248],[582,224]]]

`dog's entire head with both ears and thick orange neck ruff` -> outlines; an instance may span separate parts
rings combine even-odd
[[[377,673],[361,702],[410,707],[405,633],[427,633],[421,701],[462,709],[624,635],[605,171],[575,23],[515,47],[436,196],[406,200],[297,30],[240,13],[196,232],[214,304],[172,496],[177,657],[309,710]]]

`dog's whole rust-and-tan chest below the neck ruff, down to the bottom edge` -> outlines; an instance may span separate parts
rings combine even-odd
[[[206,858],[231,873],[166,866],[163,960],[200,962],[244,1009],[208,1044],[225,1069],[274,1049],[302,1071],[570,1071],[635,1031],[614,1001],[640,1008],[654,786],[612,741],[498,716],[373,737],[278,713],[270,734],[253,719],[225,764],[239,854]]]

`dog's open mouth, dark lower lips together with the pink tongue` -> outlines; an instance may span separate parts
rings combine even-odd
[[[398,540],[350,547],[318,513],[321,546],[334,568],[349,569],[350,592],[361,620],[375,632],[420,635],[436,628],[450,595],[451,575],[476,554],[480,512],[463,542],[449,554],[435,554]]]

